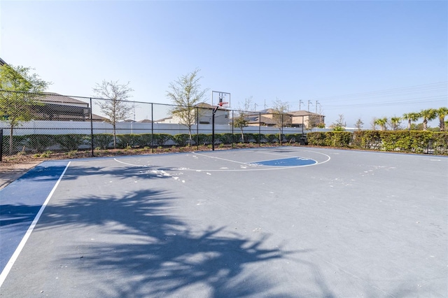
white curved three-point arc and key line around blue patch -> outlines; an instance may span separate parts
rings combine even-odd
[[[221,157],[214,157],[214,156],[210,156],[210,155],[205,155],[205,154],[200,154],[200,153],[197,153],[197,152],[193,152],[194,155],[200,155],[200,156],[203,156],[203,157],[210,157],[210,158],[214,158],[214,159],[221,159],[221,160],[224,160],[226,162],[235,162],[237,164],[244,164],[246,166],[251,166],[252,168],[251,169],[185,169],[185,168],[170,168],[170,169],[168,169],[168,168],[160,168],[160,169],[172,170],[172,171],[273,171],[273,170],[286,170],[286,169],[301,168],[301,167],[304,167],[304,166],[317,166],[318,164],[324,164],[325,162],[328,162],[331,159],[330,155],[326,155],[325,153],[311,151],[311,150],[305,150],[305,151],[314,152],[314,153],[317,153],[317,154],[320,154],[320,155],[325,155],[326,157],[328,157],[328,159],[324,160],[323,162],[317,162],[316,161],[316,164],[305,164],[305,165],[302,165],[302,166],[279,166],[279,167],[269,166],[269,168],[253,169],[253,167],[258,166],[258,165],[251,164],[251,163],[248,163],[248,162],[237,162],[236,160],[232,160],[232,159],[225,159],[225,158],[221,158]],[[254,152],[256,152],[256,151],[254,151]],[[294,156],[290,156],[290,155],[286,155],[286,156],[294,157]],[[142,165],[142,164],[131,164],[129,162],[122,162],[122,161],[120,161],[120,160],[118,160],[116,158],[114,158],[113,160],[115,160],[116,162],[120,162],[120,164],[127,164],[128,166],[139,166],[139,167],[146,167],[146,168],[149,168],[149,169],[160,170],[159,168],[157,168],[155,166],[146,166],[146,165]],[[312,159],[312,160],[315,160],[315,159]]]

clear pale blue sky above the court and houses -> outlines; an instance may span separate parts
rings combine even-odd
[[[169,104],[201,69],[232,108],[280,99],[330,125],[447,106],[447,1],[1,1],[0,57],[49,91],[89,97],[130,81],[132,100]],[[208,95],[208,97],[210,97]],[[255,106],[256,104],[256,106]],[[147,115],[137,115],[146,118]],[[433,123],[431,126],[437,126]]]

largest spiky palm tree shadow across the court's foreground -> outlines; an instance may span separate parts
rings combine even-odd
[[[99,278],[95,285],[108,286],[108,290],[97,289],[104,297],[164,297],[181,292],[207,297],[262,296],[277,285],[267,278],[272,278],[266,274],[269,269],[260,269],[260,263],[306,253],[285,251],[281,245],[272,248],[272,243],[266,243],[268,236],[262,234],[251,239],[226,227],[190,229],[181,218],[170,215],[175,200],[169,192],[158,190],[122,197],[73,196],[63,204],[47,206],[36,230],[55,232],[56,227],[66,226],[71,233],[84,233],[88,228],[96,241],[80,243],[73,234],[64,234],[64,251],[72,253],[61,253],[60,262],[78,264],[80,270],[87,269],[86,274]],[[255,263],[258,266],[250,267]],[[113,278],[103,277],[111,276],[110,272]],[[318,286],[323,296],[331,297],[325,285]],[[269,297],[300,297],[279,288],[276,292]]]

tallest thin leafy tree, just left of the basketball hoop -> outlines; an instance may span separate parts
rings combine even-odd
[[[204,101],[205,94],[208,91],[208,89],[201,89],[200,79],[202,77],[198,76],[199,72],[200,69],[195,69],[195,71],[169,83],[169,91],[167,91],[167,98],[176,105],[170,113],[179,118],[181,125],[188,127],[189,145],[192,142],[191,127],[195,124],[196,117],[200,117],[200,115],[195,114],[195,106]],[[199,109],[197,110],[199,111]]]

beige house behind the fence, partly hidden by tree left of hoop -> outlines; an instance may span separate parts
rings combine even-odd
[[[213,111],[216,106],[211,106],[207,103],[197,104],[195,108],[191,110],[192,117],[194,119],[194,124],[196,125],[197,119],[199,120],[199,124],[208,125],[212,122]],[[196,116],[196,113],[198,115]],[[215,113],[215,124],[216,125],[228,125],[229,124],[229,115],[230,111],[226,108],[219,107]],[[172,124],[181,124],[182,120],[179,116],[175,114],[171,117],[163,118],[160,120],[155,120],[155,123],[172,123]]]

